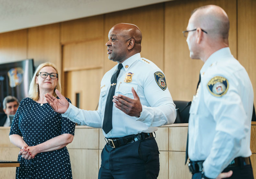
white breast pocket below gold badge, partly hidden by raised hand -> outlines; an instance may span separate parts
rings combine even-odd
[[[133,92],[132,92],[132,87],[137,92],[138,85],[131,84],[131,83],[120,84],[119,86],[116,87],[115,95],[118,96],[119,94],[121,94],[123,96],[126,96],[126,97],[129,97],[131,99],[134,99]],[[118,109],[116,107],[115,107],[115,109],[116,110],[120,110],[120,109]]]

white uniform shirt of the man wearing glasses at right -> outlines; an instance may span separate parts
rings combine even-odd
[[[205,176],[216,178],[234,158],[251,155],[253,89],[246,70],[228,47],[213,53],[200,74],[190,108],[188,154],[192,161],[205,160]],[[215,88],[216,94],[225,91],[220,97],[208,89],[215,76],[227,79],[226,90],[223,84]]]

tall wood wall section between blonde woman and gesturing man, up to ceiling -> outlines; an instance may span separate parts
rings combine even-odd
[[[64,94],[80,108],[95,110],[103,76],[103,15],[61,23]],[[64,75],[63,73],[63,75]]]

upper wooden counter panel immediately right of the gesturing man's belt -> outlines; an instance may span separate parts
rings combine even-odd
[[[158,149],[168,151],[169,127],[158,127],[155,133]]]

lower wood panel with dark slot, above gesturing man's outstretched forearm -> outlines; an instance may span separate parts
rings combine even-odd
[[[101,74],[102,69],[66,72],[65,96],[75,104],[76,92],[82,91],[80,108],[95,110],[99,102]]]

